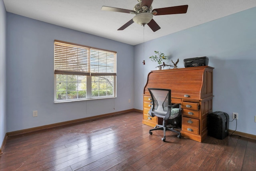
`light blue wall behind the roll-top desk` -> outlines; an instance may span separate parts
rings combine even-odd
[[[209,66],[215,68],[213,111],[224,111],[231,118],[232,112],[238,113],[237,131],[256,135],[255,16],[256,8],[251,8],[145,42],[145,54],[143,44],[135,46],[134,108],[143,109],[142,92],[147,75],[157,66],[148,58],[154,55],[154,50],[170,57],[166,64],[172,64],[171,59],[176,62],[179,58],[178,68],[184,68],[183,60],[186,58],[207,56]],[[145,66],[142,65],[143,60],[146,61]],[[236,122],[230,122],[229,128],[235,130]]]

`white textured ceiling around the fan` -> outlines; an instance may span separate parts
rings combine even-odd
[[[137,3],[137,0],[4,0],[7,12],[131,45],[256,6],[256,0],[154,0],[153,9],[188,4],[186,14],[154,16],[161,27],[156,32],[136,23],[118,31],[134,15],[101,10],[102,6],[133,10]]]

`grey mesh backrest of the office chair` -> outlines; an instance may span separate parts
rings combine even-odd
[[[171,106],[171,90],[170,89],[159,89],[159,88],[148,88],[152,97],[153,107],[152,111],[156,113],[166,114]]]

